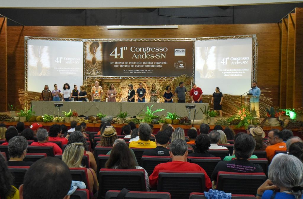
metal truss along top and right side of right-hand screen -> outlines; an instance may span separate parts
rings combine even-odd
[[[220,36],[220,37],[201,37],[196,38],[196,41],[205,40],[221,40],[221,39],[244,39],[252,38],[252,68],[251,81],[257,81],[257,67],[258,67],[258,41],[256,35],[235,35],[235,36]],[[195,74],[194,74],[195,78]]]

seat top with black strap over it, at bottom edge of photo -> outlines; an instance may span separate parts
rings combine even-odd
[[[117,199],[119,192],[110,190],[106,192],[105,199]],[[171,199],[171,195],[168,192],[130,191],[126,193],[124,199]]]

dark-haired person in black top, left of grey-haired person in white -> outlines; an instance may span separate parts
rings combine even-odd
[[[210,138],[207,134],[199,134],[195,140],[195,153],[188,154],[188,157],[215,157],[207,153],[210,148]]]

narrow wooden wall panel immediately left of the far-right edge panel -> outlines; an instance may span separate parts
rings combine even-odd
[[[294,104],[295,20],[294,13],[288,15],[286,108],[293,108]]]

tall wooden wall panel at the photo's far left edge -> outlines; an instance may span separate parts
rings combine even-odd
[[[0,17],[0,93],[1,103],[0,112],[6,111],[7,107],[7,41],[6,41],[6,31],[7,31],[7,19]]]

